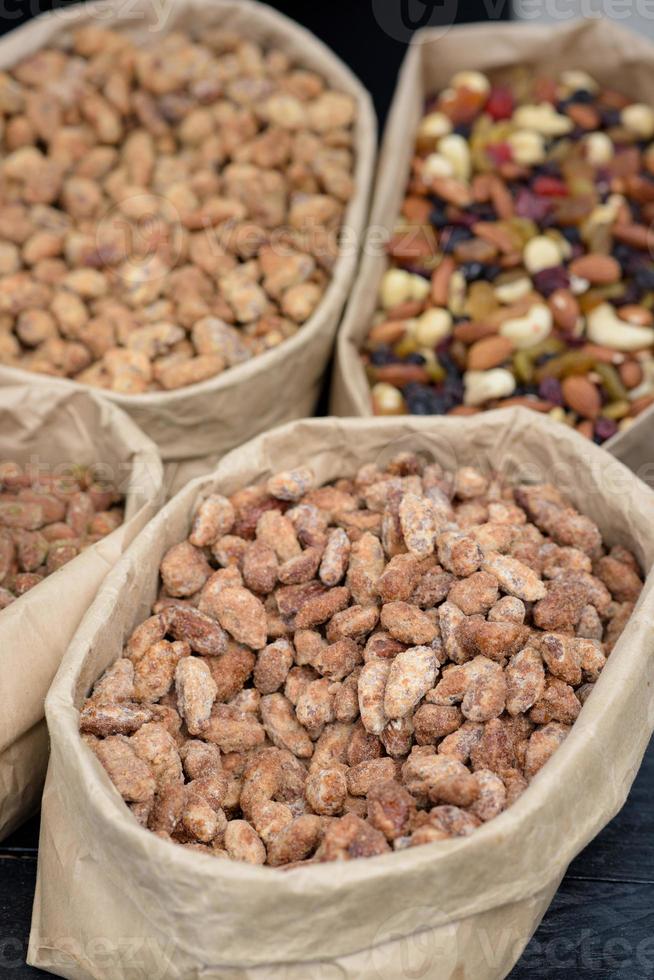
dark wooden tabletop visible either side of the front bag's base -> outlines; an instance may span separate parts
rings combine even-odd
[[[1,980],[46,976],[25,965],[37,839],[33,820],[0,844]],[[510,980],[653,977],[654,742],[626,806],[571,864]]]

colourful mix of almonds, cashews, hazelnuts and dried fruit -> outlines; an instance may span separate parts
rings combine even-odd
[[[427,105],[362,352],[377,414],[654,403],[654,109],[581,71],[463,71]]]

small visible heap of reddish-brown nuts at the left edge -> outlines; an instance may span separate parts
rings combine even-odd
[[[56,475],[0,462],[0,609],[123,519],[121,495],[93,467]]]

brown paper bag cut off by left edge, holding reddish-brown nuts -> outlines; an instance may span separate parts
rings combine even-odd
[[[114,405],[43,383],[0,389],[0,458],[102,463],[125,495],[125,522],[0,612],[0,839],[38,806],[48,762],[43,702],[109,569],[160,503],[156,447]]]

